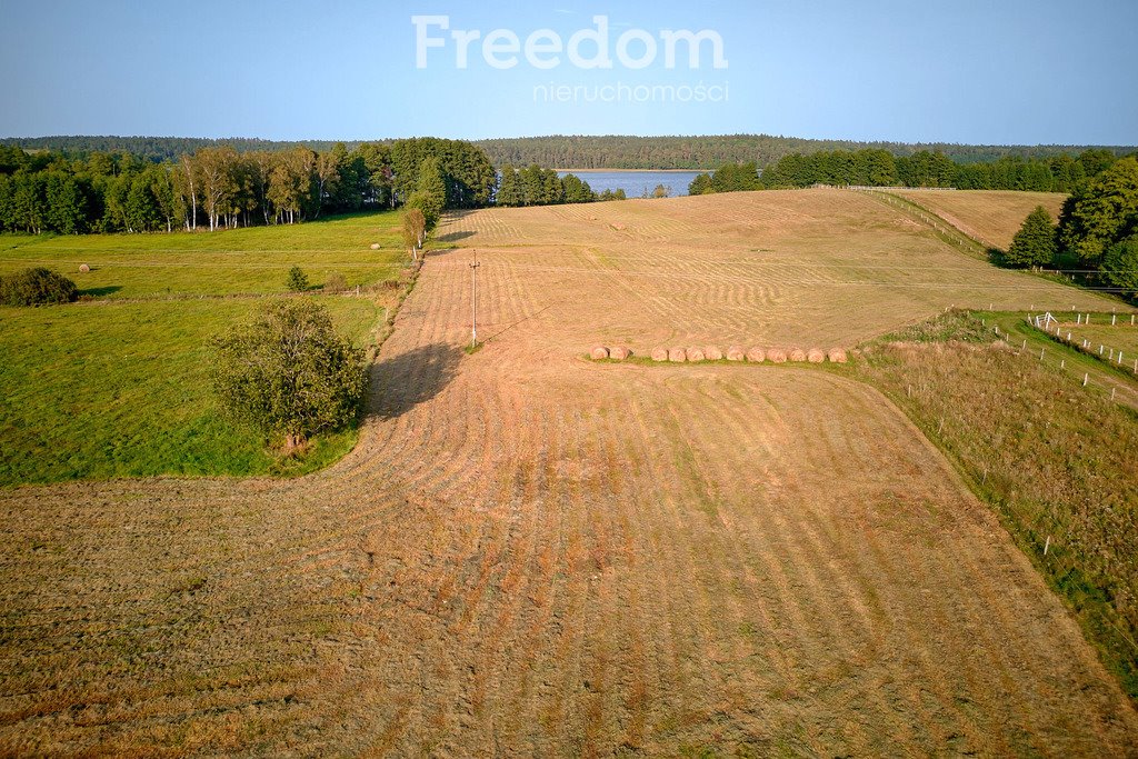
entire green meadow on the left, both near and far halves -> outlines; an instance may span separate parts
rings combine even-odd
[[[354,430],[282,460],[258,434],[226,421],[209,389],[205,344],[266,297],[286,295],[288,270],[299,264],[315,286],[330,272],[364,286],[358,297],[308,297],[358,345],[373,345],[397,298],[397,288],[377,287],[399,281],[397,225],[397,214],[371,214],[212,234],[0,237],[0,272],[48,265],[97,298],[0,307],[0,486],[303,473],[335,461]],[[384,247],[371,250],[371,240]],[[79,273],[77,261],[92,271]]]

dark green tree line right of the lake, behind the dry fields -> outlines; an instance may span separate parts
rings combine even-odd
[[[751,176],[754,164],[726,164],[714,174],[692,182],[692,195],[797,188],[813,184],[861,187],[953,187],[962,190],[1034,190],[1073,192],[1108,167],[1115,155],[1105,149],[1083,150],[1072,158],[1004,156],[989,163],[962,164],[940,151],[921,150],[912,156],[893,156],[888,150],[866,148],[791,154],[768,166],[761,176]],[[740,174],[745,176],[740,178]],[[721,179],[717,179],[720,178]],[[734,179],[733,179],[734,178]]]

